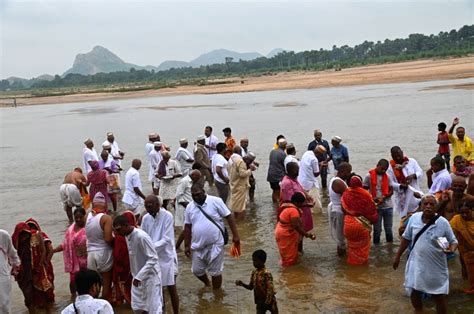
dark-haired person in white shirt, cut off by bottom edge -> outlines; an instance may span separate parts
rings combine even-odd
[[[109,302],[99,299],[102,280],[100,275],[90,269],[83,269],[76,273],[74,282],[78,296],[68,305],[61,314],[113,314],[114,310]],[[2,312],[3,313],[3,312]]]

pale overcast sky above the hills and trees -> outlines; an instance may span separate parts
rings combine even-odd
[[[0,0],[0,78],[62,74],[101,45],[158,66],[213,49],[310,50],[473,24],[474,1]]]

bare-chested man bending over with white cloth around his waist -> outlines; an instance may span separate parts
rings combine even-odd
[[[64,204],[64,210],[66,211],[66,215],[70,224],[74,221],[72,216],[72,208],[82,207],[81,189],[85,190],[86,185],[87,179],[82,174],[82,169],[74,168],[73,171],[66,174],[63,184],[59,188],[61,201]]]

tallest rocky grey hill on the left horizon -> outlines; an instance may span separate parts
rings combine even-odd
[[[82,75],[93,75],[97,73],[110,73],[117,71],[129,71],[131,68],[136,70],[156,70],[154,66],[139,66],[127,63],[120,59],[116,54],[102,46],[95,46],[88,53],[80,53],[74,59],[72,68],[64,72],[63,76],[69,73],[77,73]]]

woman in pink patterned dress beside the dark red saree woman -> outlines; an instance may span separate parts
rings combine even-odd
[[[72,297],[76,295],[74,283],[76,274],[80,270],[87,268],[85,225],[86,211],[83,208],[76,208],[74,211],[74,223],[67,228],[63,243],[54,249],[54,253],[63,252],[64,271],[69,273],[69,290]]]

